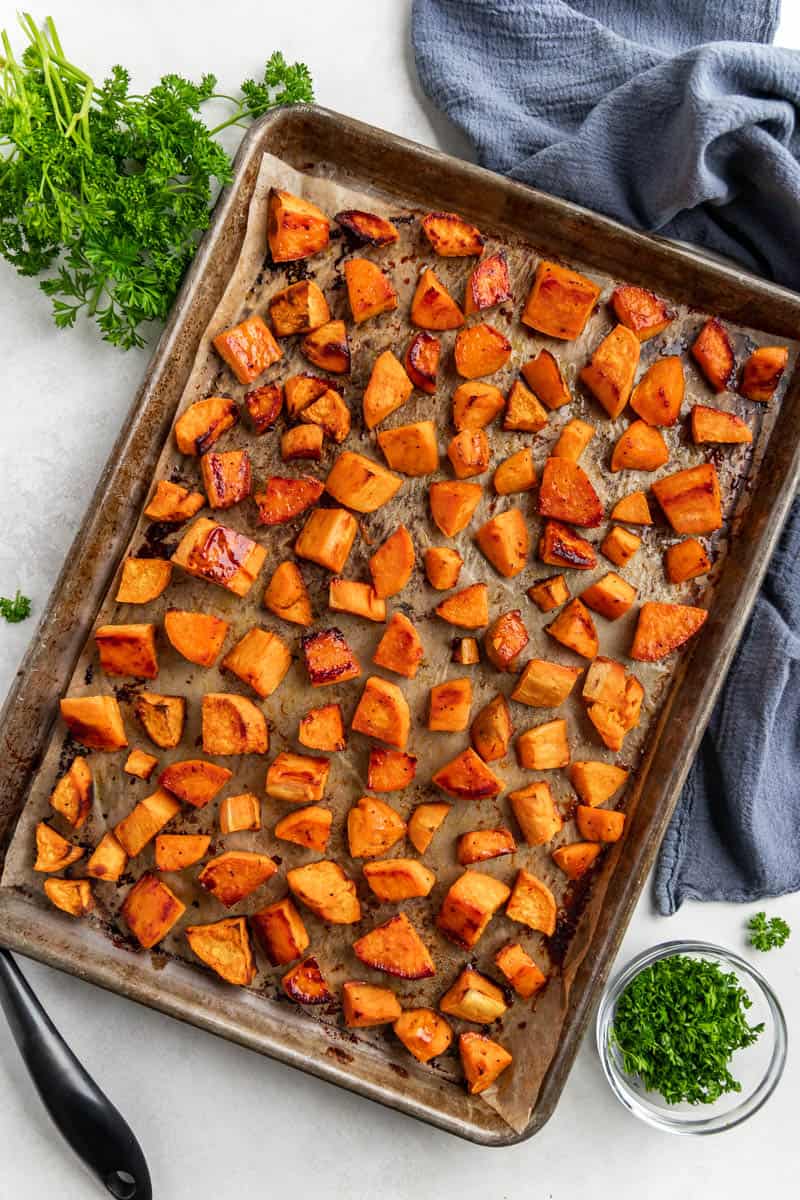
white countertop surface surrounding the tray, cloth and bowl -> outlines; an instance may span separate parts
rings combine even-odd
[[[800,44],[800,6],[784,0],[778,34]],[[789,8],[794,11],[789,11]],[[0,4],[12,29],[16,5]],[[408,0],[48,0],[67,52],[101,78],[118,59],[149,86],[167,72],[213,71],[224,91],[259,72],[275,48],[312,68],[320,103],[405,137],[464,152],[423,101],[408,44]],[[235,136],[235,134],[234,134]],[[11,684],[88,499],[144,371],[148,352],[121,354],[85,324],[59,332],[29,280],[0,263],[5,362],[0,436],[0,593],[34,599],[34,619],[0,623],[0,696]],[[800,1003],[800,895],[764,905],[692,905],[664,919],[645,890],[620,965],[655,942],[700,937],[742,952],[758,907],[795,934],[783,950],[752,953],[777,989],[790,1034]],[[747,952],[745,952],[747,953]],[[130,1003],[22,960],[73,1049],[128,1118],[157,1200],[260,1195],[330,1200],[572,1200],[582,1192],[633,1200],[796,1192],[800,1067],[746,1126],[710,1139],[645,1128],[614,1100],[591,1038],[549,1124],[527,1144],[487,1151],[395,1115]],[[204,1120],[203,1120],[204,1118]],[[60,1141],[0,1021],[0,1196],[100,1195]]]

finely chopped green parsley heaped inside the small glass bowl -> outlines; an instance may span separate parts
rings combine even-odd
[[[616,1003],[613,1042],[624,1068],[668,1104],[712,1104],[741,1084],[729,1064],[763,1025],[748,1025],[752,1001],[716,962],[675,954],[645,967]]]

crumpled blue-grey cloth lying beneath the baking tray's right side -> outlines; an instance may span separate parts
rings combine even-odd
[[[800,290],[800,53],[778,0],[415,0],[422,86],[480,162]],[[687,899],[800,889],[800,502],[667,832]]]

